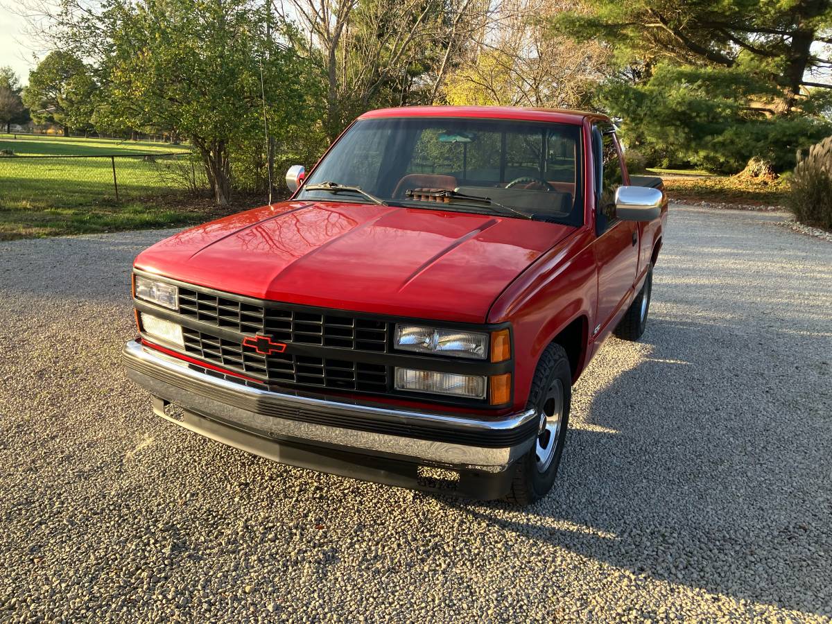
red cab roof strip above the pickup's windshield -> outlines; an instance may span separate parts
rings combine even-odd
[[[481,119],[517,119],[522,121],[556,121],[579,126],[587,117],[607,120],[607,116],[562,108],[520,108],[514,106],[400,106],[367,111],[359,119],[379,117],[474,117]]]

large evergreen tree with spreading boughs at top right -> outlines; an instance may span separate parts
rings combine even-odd
[[[740,171],[753,156],[782,171],[832,131],[832,5],[820,0],[586,0],[553,34],[601,40],[618,72],[602,106],[654,164]]]

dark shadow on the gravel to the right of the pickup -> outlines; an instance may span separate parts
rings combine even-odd
[[[636,575],[830,615],[829,427],[795,375],[814,363],[784,368],[734,329],[651,319],[648,358],[570,423],[547,498],[442,503]]]

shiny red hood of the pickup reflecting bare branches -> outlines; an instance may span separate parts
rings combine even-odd
[[[483,322],[503,289],[572,230],[499,215],[287,201],[171,236],[136,267],[259,299]]]

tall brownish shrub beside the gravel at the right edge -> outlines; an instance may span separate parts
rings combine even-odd
[[[832,230],[832,136],[797,154],[789,208],[800,223]]]

